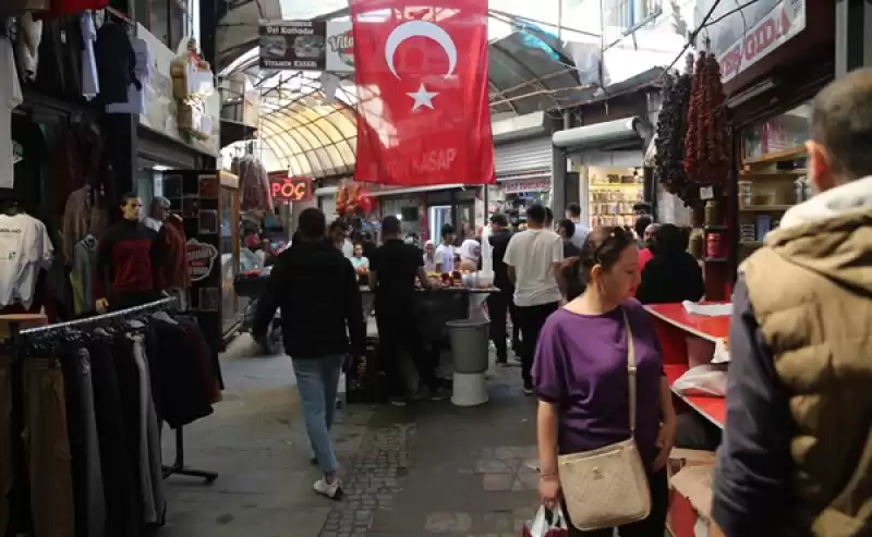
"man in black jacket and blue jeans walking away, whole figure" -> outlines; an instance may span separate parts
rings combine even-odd
[[[293,363],[306,432],[324,472],[315,492],[338,500],[330,425],[342,363],[349,354],[363,356],[366,324],[354,268],[325,241],[326,231],[324,212],[303,210],[296,240],[278,256],[258,301],[252,333],[262,341],[281,307],[284,352]]]

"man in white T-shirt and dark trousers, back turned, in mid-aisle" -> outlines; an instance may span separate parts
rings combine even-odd
[[[526,211],[526,230],[512,235],[502,261],[514,282],[514,305],[521,325],[521,375],[524,393],[533,393],[533,355],[542,326],[562,300],[564,242],[546,228],[547,211],[534,205]]]

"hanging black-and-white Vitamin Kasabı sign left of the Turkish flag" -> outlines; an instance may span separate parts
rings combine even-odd
[[[351,23],[347,21],[261,21],[261,69],[354,70]]]

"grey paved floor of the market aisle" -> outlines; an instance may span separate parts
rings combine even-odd
[[[243,335],[222,357],[216,413],[185,429],[186,463],[218,480],[168,480],[169,537],[517,537],[535,513],[534,402],[519,368],[492,368],[488,404],[346,406],[334,438],[346,498],[316,496],[293,371],[251,357]],[[165,457],[172,456],[171,436]]]

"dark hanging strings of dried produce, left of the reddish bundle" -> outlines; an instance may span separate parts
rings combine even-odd
[[[654,139],[654,168],[661,184],[666,192],[677,195],[688,205],[699,197],[699,188],[690,183],[685,172],[685,137],[688,132],[692,73],[692,56],[688,56],[683,74],[674,76],[666,73]]]

